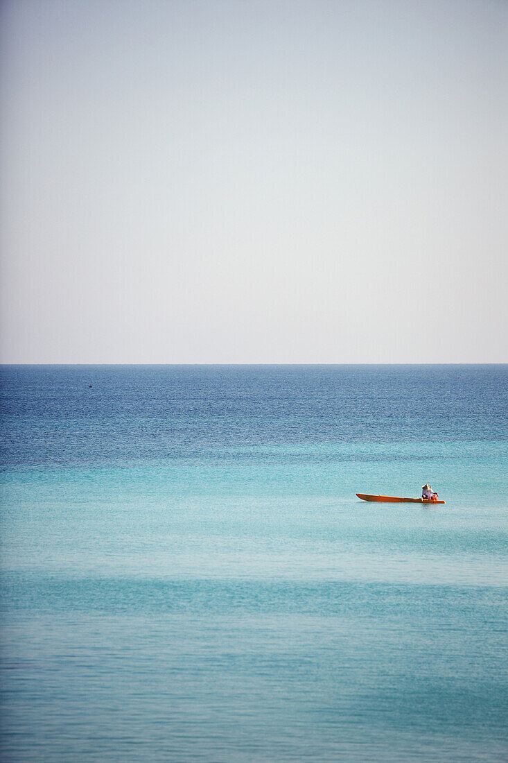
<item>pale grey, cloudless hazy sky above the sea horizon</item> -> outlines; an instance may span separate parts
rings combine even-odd
[[[506,362],[504,0],[4,0],[0,361]]]

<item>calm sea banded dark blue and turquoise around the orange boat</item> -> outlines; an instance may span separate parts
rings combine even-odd
[[[508,759],[506,365],[1,381],[2,761]]]

